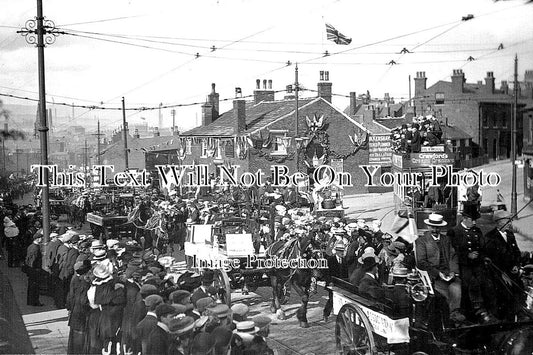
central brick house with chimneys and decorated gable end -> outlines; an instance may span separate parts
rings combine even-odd
[[[268,176],[275,164],[286,165],[291,174],[298,170],[311,174],[323,163],[351,174],[353,187],[346,193],[368,192],[359,165],[368,163],[369,131],[332,105],[329,73],[320,74],[317,97],[298,100],[297,123],[294,95],[287,90],[282,100],[276,100],[270,80],[263,80],[262,87],[257,80],[253,100],[235,99],[233,108],[222,114],[213,84],[202,105],[202,125],[180,135],[181,158],[175,150],[162,148],[147,155],[147,168],[177,162],[206,164],[218,174],[217,166],[224,164],[240,166],[238,175],[261,169]]]

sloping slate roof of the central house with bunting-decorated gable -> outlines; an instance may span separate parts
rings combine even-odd
[[[314,98],[298,100],[298,107],[307,105]],[[275,120],[292,114],[295,109],[295,100],[262,101],[258,104],[253,101],[246,102],[246,129],[241,134],[251,133]],[[233,137],[237,135],[237,113],[234,108],[224,112],[219,118],[207,126],[199,126],[186,131],[181,136],[216,136]]]

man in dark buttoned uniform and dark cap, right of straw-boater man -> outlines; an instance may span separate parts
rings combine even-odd
[[[448,230],[454,249],[457,251],[459,261],[459,271],[463,282],[463,291],[468,295],[470,306],[476,317],[484,322],[490,322],[494,317],[487,309],[494,308],[491,304],[492,283],[486,277],[485,264],[482,255],[483,232],[479,229],[475,221],[480,217],[477,206],[466,204],[462,212],[461,223]]]

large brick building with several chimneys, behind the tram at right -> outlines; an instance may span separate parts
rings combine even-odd
[[[510,157],[513,92],[506,81],[495,87],[493,72],[484,83],[467,83],[461,69],[453,71],[450,81],[439,80],[427,87],[425,72],[417,72],[415,98],[417,115],[433,114],[447,118],[450,125],[472,137],[472,156],[490,159]],[[519,86],[519,109],[533,101],[533,72],[526,71]],[[517,153],[522,152],[522,115],[517,117]]]

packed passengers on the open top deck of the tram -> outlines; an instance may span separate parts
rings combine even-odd
[[[442,144],[442,134],[441,123],[435,116],[413,117],[412,123],[392,130],[392,149],[402,154],[419,153],[422,146]]]

